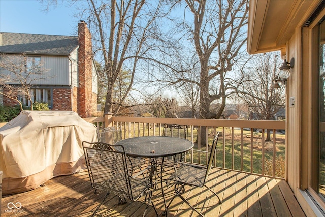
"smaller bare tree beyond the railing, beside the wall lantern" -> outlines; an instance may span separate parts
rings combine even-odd
[[[265,53],[255,56],[251,70],[245,72],[239,96],[260,120],[274,120],[275,114],[285,107],[285,89],[274,87],[280,65],[277,53]],[[266,140],[271,140],[270,130],[267,130]]]

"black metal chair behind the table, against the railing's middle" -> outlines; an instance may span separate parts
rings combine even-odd
[[[164,125],[164,136],[170,136],[170,137],[179,137],[187,139],[187,125]],[[162,158],[158,158],[157,164],[160,165],[159,162],[161,162]],[[183,154],[177,154],[176,156],[170,156],[164,158],[164,166],[165,167],[174,167],[174,164],[178,161],[184,161],[185,160],[185,153]]]

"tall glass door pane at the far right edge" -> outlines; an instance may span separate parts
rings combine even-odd
[[[316,22],[316,21],[315,21]],[[310,180],[308,192],[325,207],[325,22],[312,27],[313,59],[310,71]]]

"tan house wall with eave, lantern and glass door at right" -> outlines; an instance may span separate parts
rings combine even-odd
[[[325,215],[325,1],[250,0],[247,50],[281,51],[286,177],[307,216]]]

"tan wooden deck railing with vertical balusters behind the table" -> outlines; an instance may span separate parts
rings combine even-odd
[[[285,178],[285,121],[220,120],[184,118],[115,117],[84,118],[96,126],[119,125],[122,138],[162,136],[164,124],[188,126],[188,139],[194,148],[186,161],[206,164],[209,144],[217,131],[219,138],[214,166],[270,177]],[[205,128],[205,142],[201,144],[201,127]],[[267,138],[271,131],[271,141]],[[256,132],[258,131],[258,132]],[[283,132],[282,131],[282,132]]]

